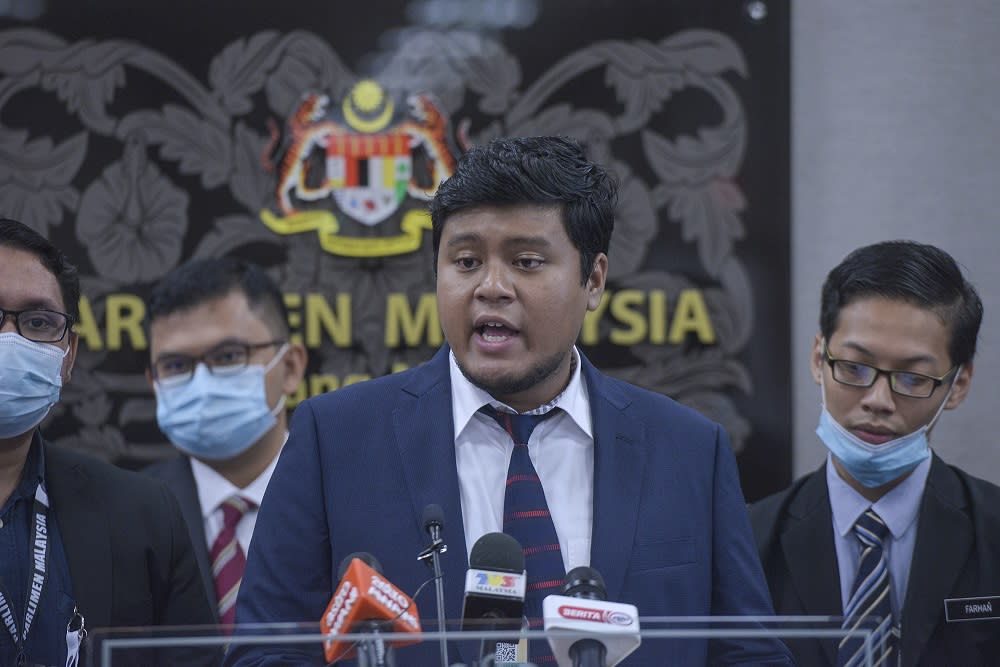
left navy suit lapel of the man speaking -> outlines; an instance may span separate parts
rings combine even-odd
[[[448,348],[442,348],[414,374],[401,390],[403,397],[392,419],[414,522],[421,535],[425,535],[424,507],[433,503],[444,510],[444,540],[448,544],[448,552],[441,557],[445,617],[459,619],[469,563],[455,463],[448,354]]]

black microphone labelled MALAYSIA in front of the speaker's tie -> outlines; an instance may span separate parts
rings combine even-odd
[[[462,629],[520,632],[526,586],[524,549],[518,541],[504,533],[480,537],[472,547],[465,575]],[[517,639],[497,642],[497,652],[509,654],[516,644]]]

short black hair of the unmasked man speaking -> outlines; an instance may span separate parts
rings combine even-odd
[[[563,227],[580,251],[586,283],[597,255],[608,253],[617,192],[607,171],[569,137],[495,139],[472,148],[430,204],[434,266],[452,215],[479,206],[551,205],[560,210]]]

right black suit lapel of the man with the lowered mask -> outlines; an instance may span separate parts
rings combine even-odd
[[[916,662],[944,611],[955,580],[968,560],[973,529],[954,473],[936,455],[920,501],[903,613],[902,653]]]

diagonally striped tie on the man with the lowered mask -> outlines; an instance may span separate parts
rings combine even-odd
[[[897,638],[889,602],[889,564],[882,549],[888,532],[888,526],[871,508],[854,524],[854,534],[861,541],[861,562],[842,626],[844,629],[873,630],[872,655],[878,665],[889,664]],[[837,652],[838,667],[863,664],[864,638],[844,637]]]

